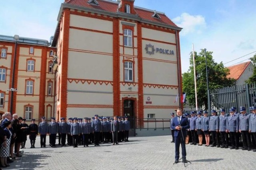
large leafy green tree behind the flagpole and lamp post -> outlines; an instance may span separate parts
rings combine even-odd
[[[216,63],[212,57],[211,51],[206,51],[209,90],[233,86],[235,80],[227,78],[229,69],[224,67],[223,63]],[[205,52],[202,50],[199,54],[194,52],[196,66],[196,88],[198,107],[205,106],[208,109],[207,83],[206,83],[206,60]],[[190,106],[196,106],[195,86],[194,86],[194,66],[193,54],[190,53],[190,67],[188,72],[182,74],[183,92],[186,92],[186,100]]]

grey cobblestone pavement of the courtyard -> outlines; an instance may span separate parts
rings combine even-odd
[[[102,144],[99,147],[56,147],[30,149],[29,140],[22,157],[9,168],[14,170],[255,170],[256,152],[216,147],[186,145],[191,164],[174,163],[174,143],[170,136],[130,137],[120,145]],[[48,143],[47,137],[47,143]],[[58,140],[56,141],[58,144]],[[180,148],[181,150],[181,148]]]

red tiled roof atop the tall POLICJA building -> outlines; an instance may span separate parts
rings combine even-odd
[[[72,4],[76,6],[83,6],[87,8],[93,8],[96,10],[104,10],[108,12],[116,13],[118,9],[118,4],[115,2],[105,1],[105,0],[97,0],[99,5],[92,5],[87,3],[88,0],[69,0],[67,4]],[[149,21],[155,21],[159,23],[164,23],[172,26],[177,26],[175,23],[173,23],[165,14],[158,14],[160,16],[160,19],[152,18],[151,16],[154,14],[154,12],[143,10],[140,8],[134,8],[134,10],[137,12],[138,16],[142,19],[149,20]]]

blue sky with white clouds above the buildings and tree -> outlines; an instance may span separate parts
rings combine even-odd
[[[50,41],[63,2],[1,1],[0,34]],[[192,44],[198,53],[204,48],[212,51],[214,61],[223,62],[224,66],[250,61],[256,54],[256,0],[135,0],[134,5],[164,12],[183,28],[180,32],[182,73],[190,66]]]

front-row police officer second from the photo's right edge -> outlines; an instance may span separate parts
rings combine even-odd
[[[243,140],[243,149],[242,150],[252,150],[251,138],[249,135],[249,121],[250,115],[246,113],[245,107],[240,107],[240,112],[242,114],[239,115],[239,132],[242,135]]]

